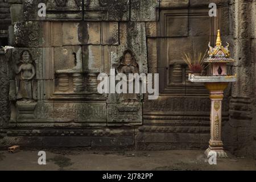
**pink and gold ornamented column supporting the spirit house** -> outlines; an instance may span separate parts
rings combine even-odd
[[[218,158],[226,158],[226,152],[223,150],[221,140],[221,106],[223,100],[223,92],[228,86],[228,82],[206,83],[206,88],[210,91],[210,140],[209,148],[205,151],[208,156],[210,151],[217,152]]]

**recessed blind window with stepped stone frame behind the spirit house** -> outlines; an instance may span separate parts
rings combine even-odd
[[[162,3],[162,2],[161,2]],[[160,94],[173,96],[205,96],[208,91],[203,84],[188,81],[189,69],[183,52],[193,48],[205,52],[207,43],[213,42],[218,17],[211,18],[207,9],[160,10],[157,23],[157,53]],[[204,73],[205,74],[205,73]]]

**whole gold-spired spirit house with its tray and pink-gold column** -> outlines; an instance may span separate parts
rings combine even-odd
[[[204,60],[210,64],[210,76],[195,76],[189,74],[188,80],[191,82],[204,82],[205,87],[210,92],[210,140],[209,148],[205,151],[208,156],[210,151],[215,151],[218,158],[226,158],[226,152],[223,149],[221,140],[221,106],[224,97],[223,92],[228,86],[228,82],[237,81],[235,76],[228,76],[226,72],[226,64],[232,63],[228,50],[229,44],[226,47],[221,45],[220,30],[218,30],[216,46],[210,47],[209,56]]]

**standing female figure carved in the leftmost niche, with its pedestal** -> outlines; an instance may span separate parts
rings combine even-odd
[[[31,53],[24,50],[20,54],[20,60],[16,60],[15,83],[16,83],[16,108],[17,119],[35,119],[35,106],[37,104],[37,81],[35,60]]]

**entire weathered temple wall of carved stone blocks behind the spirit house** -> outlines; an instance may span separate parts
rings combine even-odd
[[[217,17],[208,15],[211,2]],[[9,76],[1,86],[10,88],[0,97],[10,103],[2,146],[207,148],[208,91],[188,81],[181,56],[204,52],[220,28],[238,76],[225,91],[224,147],[255,152],[255,1],[13,0],[10,12],[15,49],[1,62]],[[158,100],[97,93],[98,73],[125,70],[127,52],[138,73],[159,73]],[[34,76],[23,81],[27,69]]]

